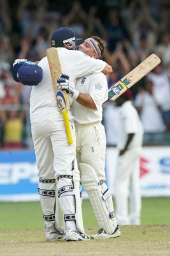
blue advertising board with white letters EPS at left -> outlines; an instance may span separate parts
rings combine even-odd
[[[38,170],[33,151],[0,152],[0,200],[38,200]]]

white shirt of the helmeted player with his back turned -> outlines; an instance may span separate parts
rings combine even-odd
[[[78,77],[101,72],[106,65],[104,61],[90,58],[80,51],[70,51],[62,47],[57,50],[62,73],[69,75],[73,82]],[[43,79],[37,86],[32,86],[30,113],[37,108],[57,106],[47,57],[39,61],[38,65],[43,69]]]

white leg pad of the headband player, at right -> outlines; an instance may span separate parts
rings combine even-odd
[[[81,182],[87,191],[97,223],[108,234],[117,227],[111,192],[89,164],[80,163]]]

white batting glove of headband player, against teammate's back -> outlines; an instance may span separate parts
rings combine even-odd
[[[66,78],[60,77],[57,79],[57,88],[60,90],[66,90],[67,93],[69,93],[69,95],[71,95],[71,97],[76,100],[79,92],[75,90],[74,87],[74,83]]]

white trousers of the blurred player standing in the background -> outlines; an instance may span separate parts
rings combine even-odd
[[[141,148],[127,150],[118,156],[115,175],[117,221],[120,225],[139,225],[141,193],[139,188],[139,159]],[[128,202],[129,198],[129,202]]]

